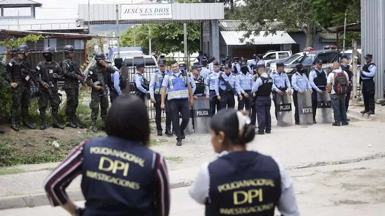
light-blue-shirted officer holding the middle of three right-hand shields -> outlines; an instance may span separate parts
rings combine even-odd
[[[295,66],[297,71],[291,76],[291,85],[293,86],[293,101],[295,106],[294,120],[295,124],[300,124],[300,116],[298,114],[298,96],[297,93],[301,95],[305,93],[306,90],[309,90],[313,93],[310,82],[305,74],[305,68],[303,68],[302,64],[298,64]]]

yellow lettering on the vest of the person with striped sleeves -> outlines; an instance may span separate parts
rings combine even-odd
[[[122,158],[124,160],[124,161],[112,160],[107,156],[101,156],[99,161],[99,167],[98,167],[98,169],[101,171],[111,172],[113,174],[120,171],[120,172],[123,172],[123,176],[127,176],[128,169],[130,167],[130,163],[128,163],[128,161],[136,163],[141,167],[144,167],[144,160],[142,158],[139,158],[136,155],[132,155],[125,151],[119,151],[111,148],[91,147],[90,153],[98,154],[98,155],[115,156],[117,158]],[[140,184],[137,182],[115,178],[113,176],[109,176],[104,173],[98,173],[98,172],[87,170],[86,175],[89,178],[98,179],[100,181],[105,181],[108,183],[117,184],[120,186],[132,188],[132,189],[140,188]]]

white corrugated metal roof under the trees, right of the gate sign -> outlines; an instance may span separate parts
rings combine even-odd
[[[251,39],[254,39],[254,42],[252,42],[254,45],[295,43],[295,40],[293,40],[288,33],[283,31],[277,31],[275,35],[269,34],[266,37],[264,37],[265,32],[262,31],[259,33],[258,37],[252,35],[241,43],[239,38],[243,38],[245,33],[245,31],[221,31],[221,35],[227,45],[245,45],[247,42],[251,42]]]

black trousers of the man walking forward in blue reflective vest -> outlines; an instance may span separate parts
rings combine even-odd
[[[172,116],[172,128],[175,131],[176,139],[182,140],[182,133],[190,120],[191,111],[188,99],[169,100],[168,105]],[[179,113],[182,116],[182,123],[179,125]]]

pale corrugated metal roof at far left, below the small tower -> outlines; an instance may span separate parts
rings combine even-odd
[[[77,19],[20,19],[20,20],[1,20],[0,28],[22,31],[45,31],[45,30],[70,30],[87,29],[83,21]]]

